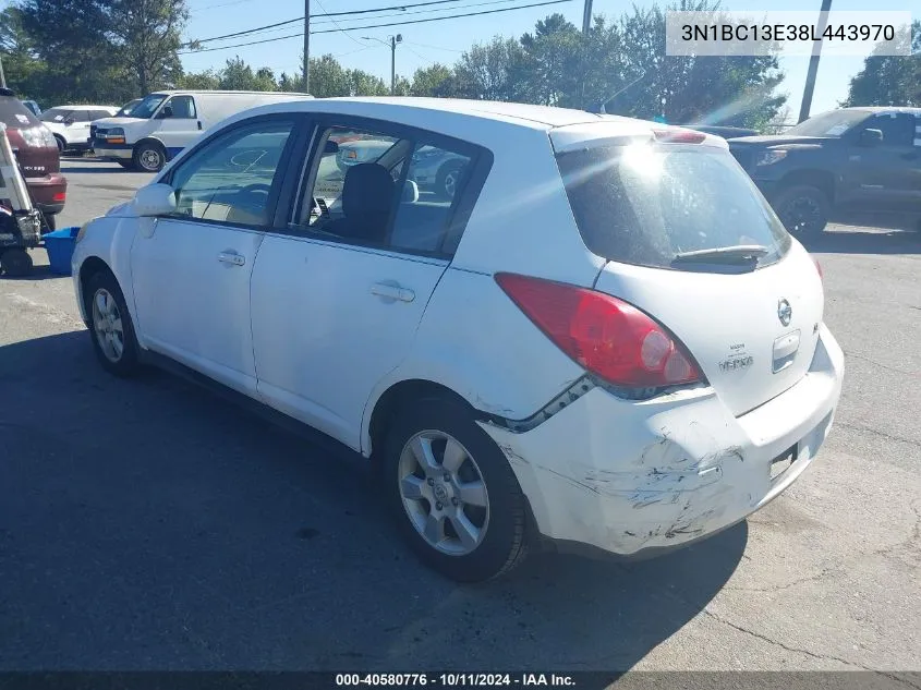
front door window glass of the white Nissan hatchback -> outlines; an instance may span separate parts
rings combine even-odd
[[[282,155],[293,126],[291,122],[243,126],[193,154],[171,178],[177,214],[216,222],[269,225],[268,197],[283,171]]]

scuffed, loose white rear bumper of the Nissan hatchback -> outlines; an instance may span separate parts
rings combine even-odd
[[[531,431],[481,425],[544,536],[644,557],[743,520],[796,481],[831,428],[843,375],[822,326],[809,373],[740,417],[708,388],[631,402],[595,387]],[[791,448],[797,459],[772,480]]]

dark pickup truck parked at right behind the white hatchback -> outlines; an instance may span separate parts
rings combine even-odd
[[[795,234],[832,214],[921,215],[921,108],[832,110],[729,148]]]

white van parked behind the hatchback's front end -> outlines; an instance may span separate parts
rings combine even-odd
[[[287,92],[162,90],[149,94],[128,118],[104,118],[89,128],[96,156],[123,168],[157,172],[202,133],[241,110],[311,98]]]

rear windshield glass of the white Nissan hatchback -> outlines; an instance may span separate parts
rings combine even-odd
[[[598,146],[559,154],[557,164],[579,232],[598,256],[701,270],[713,262],[682,261],[688,253],[758,245],[754,269],[789,249],[784,226],[724,149]]]

